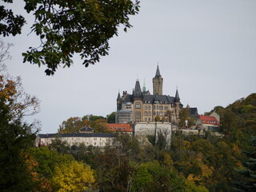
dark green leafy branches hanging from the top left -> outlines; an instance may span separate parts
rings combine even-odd
[[[74,54],[80,54],[86,67],[98,62],[108,54],[108,41],[118,35],[118,26],[123,25],[125,31],[131,27],[128,16],[138,14],[139,7],[138,0],[24,1],[25,10],[34,14],[31,30],[39,36],[41,45],[23,53],[23,62],[46,65],[47,75],[54,74],[58,66],[70,66]],[[15,18],[3,6],[0,14],[0,34],[21,33],[25,21],[22,16]]]

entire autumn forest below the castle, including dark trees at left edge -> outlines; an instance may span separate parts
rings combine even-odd
[[[35,109],[37,100],[21,94],[18,79],[1,76],[0,82],[1,191],[256,190],[256,94],[214,107],[222,138],[177,131],[167,146],[163,136],[154,142],[117,134],[118,145],[103,150],[59,139],[35,148],[34,123],[23,122],[21,111]]]

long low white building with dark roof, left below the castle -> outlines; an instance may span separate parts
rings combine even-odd
[[[67,142],[70,146],[114,146],[115,135],[106,133],[72,133],[72,134],[38,134],[36,146],[49,146],[51,142],[59,138],[62,142]]]

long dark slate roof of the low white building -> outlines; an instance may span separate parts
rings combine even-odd
[[[115,138],[111,133],[38,134],[39,138]]]

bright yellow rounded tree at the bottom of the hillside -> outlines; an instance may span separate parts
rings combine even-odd
[[[82,162],[62,163],[55,167],[52,179],[54,188],[58,192],[62,191],[85,191],[93,186],[94,170]]]

